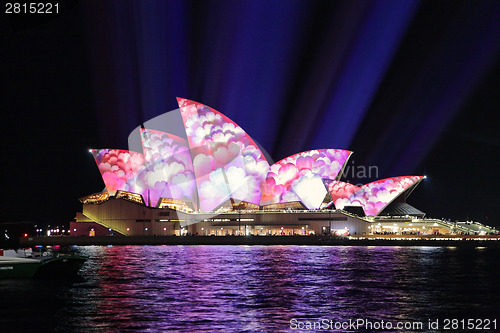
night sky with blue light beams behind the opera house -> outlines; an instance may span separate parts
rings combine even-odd
[[[89,148],[213,107],[278,161],[427,175],[429,217],[500,226],[499,1],[59,1],[0,20],[0,222],[68,223],[104,188]]]

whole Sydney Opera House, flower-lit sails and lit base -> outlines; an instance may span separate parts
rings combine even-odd
[[[305,151],[270,165],[222,113],[186,99],[178,104],[184,137],[141,128],[142,151],[91,150],[105,189],[80,199],[72,235],[449,231],[406,203],[423,176],[355,186],[341,180],[352,154],[341,149]]]

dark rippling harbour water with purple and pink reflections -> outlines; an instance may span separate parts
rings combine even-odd
[[[491,331],[500,323],[494,322],[500,320],[497,248],[85,246],[77,251],[89,260],[76,281],[0,281],[1,332],[297,332],[313,324],[323,325],[316,331],[450,332],[468,319],[489,319]],[[453,319],[458,329],[452,329]],[[361,320],[372,329],[334,326]],[[421,327],[395,327],[418,322]]]

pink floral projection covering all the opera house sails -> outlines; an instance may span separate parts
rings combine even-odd
[[[340,181],[351,151],[317,149],[294,154],[269,166],[252,138],[231,119],[197,102],[177,99],[186,139],[141,129],[143,153],[94,149],[92,154],[110,195],[142,195],[147,205],[160,198],[193,204],[211,212],[229,199],[256,205],[302,202],[308,209],[362,206],[379,214],[421,176],[393,177],[361,187]]]

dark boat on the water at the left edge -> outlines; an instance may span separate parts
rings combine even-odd
[[[33,255],[31,249],[0,250],[0,279],[10,278],[72,278],[87,258],[77,255]]]

